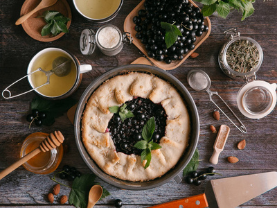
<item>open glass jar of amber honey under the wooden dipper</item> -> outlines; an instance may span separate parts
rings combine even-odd
[[[35,132],[26,137],[21,147],[20,157],[24,157],[35,148],[37,148],[46,137],[48,137],[48,134],[43,132]],[[55,171],[57,166],[60,165],[63,153],[64,151],[61,144],[57,148],[53,148],[48,152],[41,152],[35,155],[35,157],[29,159],[26,163],[24,163],[23,166],[27,171],[33,173],[52,173],[53,171]]]

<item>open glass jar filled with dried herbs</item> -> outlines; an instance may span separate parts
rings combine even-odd
[[[222,71],[231,78],[255,76],[263,58],[260,44],[250,37],[240,36],[235,29],[224,33],[229,36],[229,42],[224,44],[218,55]]]

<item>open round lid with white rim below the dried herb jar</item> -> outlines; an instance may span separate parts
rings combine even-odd
[[[276,105],[276,83],[253,81],[244,85],[237,96],[238,108],[250,119],[267,116]]]

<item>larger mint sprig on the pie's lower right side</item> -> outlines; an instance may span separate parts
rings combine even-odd
[[[139,150],[143,150],[141,153],[141,163],[143,162],[143,160],[146,159],[146,164],[144,166],[145,169],[148,168],[151,162],[151,158],[152,158],[151,150],[157,150],[161,148],[159,144],[155,143],[152,140],[152,135],[154,133],[155,128],[156,128],[155,119],[154,117],[152,117],[151,119],[148,120],[148,122],[143,127],[143,132],[142,132],[143,140],[136,142],[136,144],[134,145],[135,148],[138,148]]]

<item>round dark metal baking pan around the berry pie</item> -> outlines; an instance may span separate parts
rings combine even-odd
[[[163,80],[167,80],[171,85],[175,86],[178,89],[181,96],[184,98],[184,102],[188,107],[188,112],[190,113],[190,123],[191,123],[191,132],[190,132],[190,141],[189,146],[186,148],[184,155],[179,159],[179,162],[176,164],[174,168],[172,168],[168,173],[162,175],[161,177],[157,177],[154,180],[145,181],[145,182],[131,182],[127,180],[120,180],[116,177],[108,175],[101,168],[98,167],[96,162],[91,159],[89,153],[87,153],[86,148],[82,144],[82,137],[81,137],[81,120],[82,120],[82,113],[84,112],[84,108],[86,106],[89,97],[93,92],[100,86],[105,80],[109,78],[122,74],[127,73],[128,71],[138,71],[143,73],[152,73]],[[115,69],[111,69],[106,73],[99,76],[87,87],[87,89],[82,94],[80,101],[78,103],[78,107],[75,112],[75,119],[74,119],[74,132],[75,132],[75,140],[80,152],[82,159],[84,162],[89,166],[91,171],[95,173],[98,177],[100,177],[105,182],[114,185],[120,189],[131,189],[131,190],[144,190],[144,189],[152,189],[154,187],[159,187],[161,184],[165,184],[173,177],[175,177],[180,171],[182,171],[190,159],[193,157],[193,153],[197,147],[198,137],[199,137],[199,116],[197,112],[197,108],[193,101],[193,98],[190,96],[190,93],[184,87],[184,85],[177,79],[175,76],[172,76],[167,71],[159,69],[157,67],[152,67],[149,65],[144,64],[131,64],[125,65],[122,67],[116,67]]]

